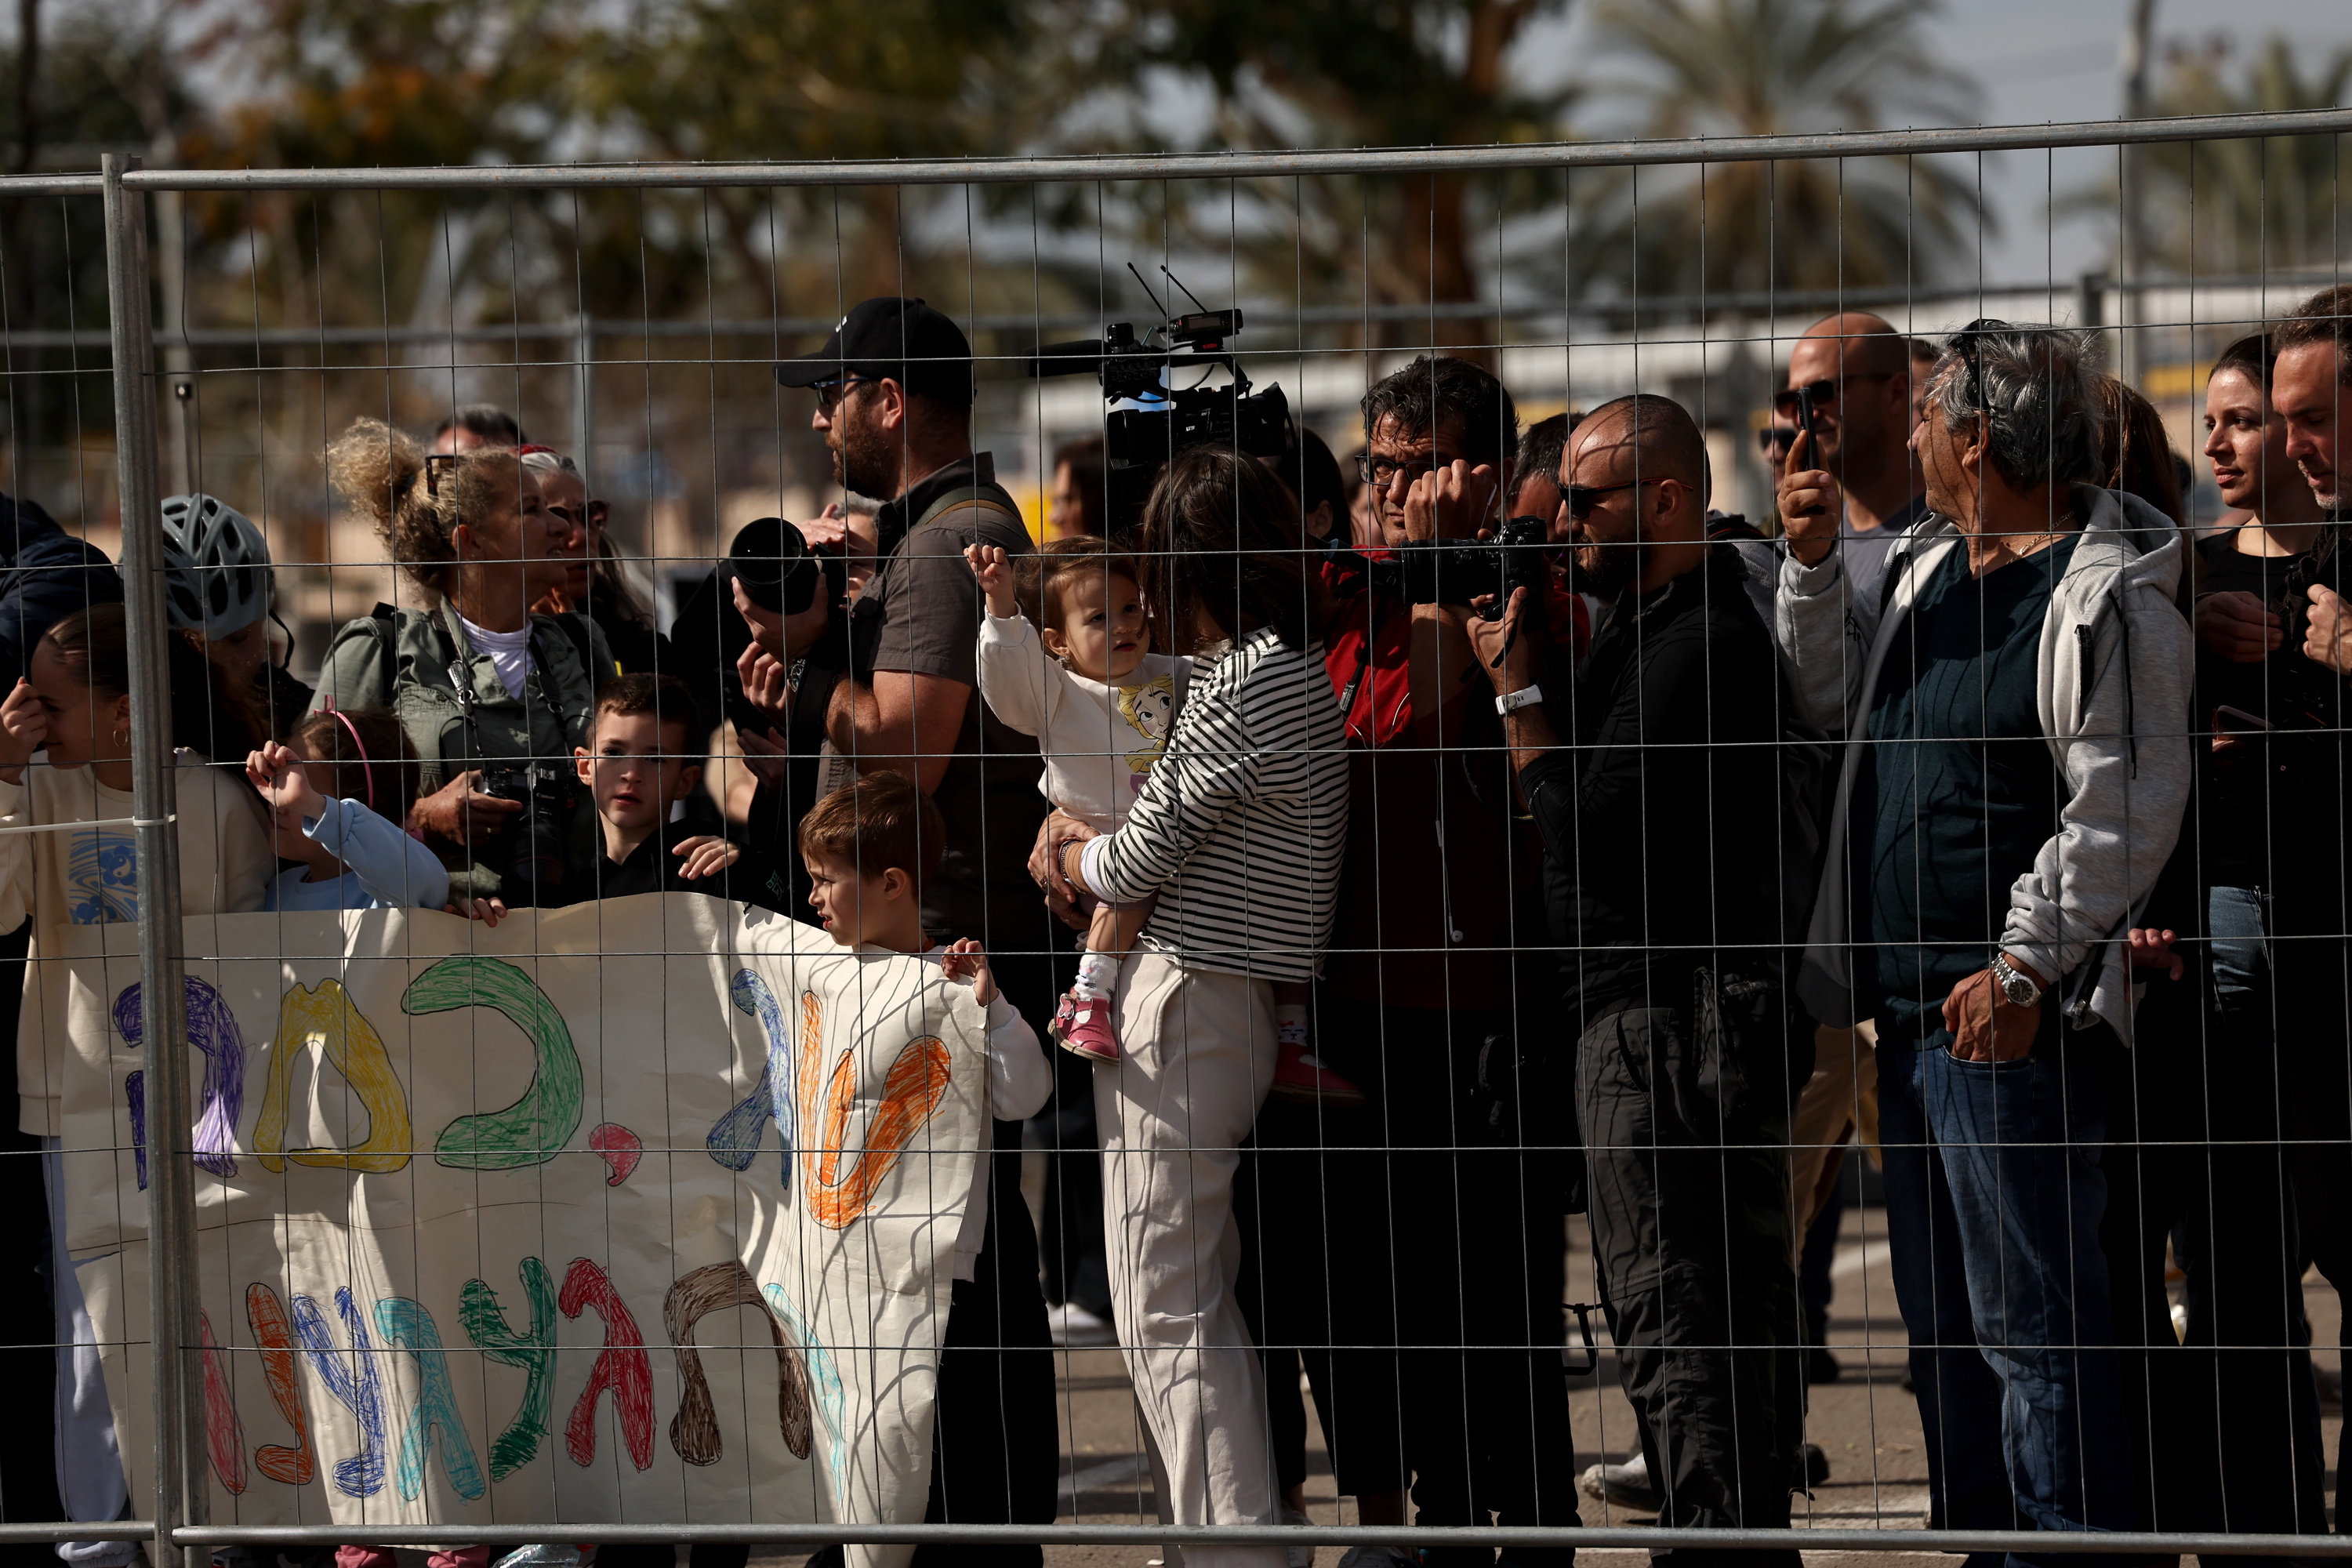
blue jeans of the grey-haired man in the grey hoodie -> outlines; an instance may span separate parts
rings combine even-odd
[[[2056,1034],[2011,1063],[1882,1034],[1886,1232],[1947,1528],[2138,1523],[2098,1248],[2112,1041]]]

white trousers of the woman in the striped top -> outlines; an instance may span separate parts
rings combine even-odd
[[[1171,1523],[1275,1523],[1263,1373],[1232,1295],[1232,1178],[1275,1074],[1275,990],[1138,950],[1115,1023],[1120,1060],[1094,1067],[1103,1244]],[[1185,1568],[1282,1568],[1279,1547],[1183,1556]]]

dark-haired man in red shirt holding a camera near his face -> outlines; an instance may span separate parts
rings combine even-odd
[[[1517,853],[1501,724],[1477,698],[1463,632],[1470,597],[1505,569],[1550,583],[1548,550],[1541,524],[1534,543],[1486,538],[1505,522],[1519,421],[1477,364],[1425,355],[1383,378],[1364,397],[1364,437],[1362,477],[1388,548],[1369,562],[1341,552],[1327,569],[1338,604],[1324,654],[1355,809],[1317,1037],[1369,1105],[1324,1107],[1317,1126],[1334,1145],[1385,1150],[1319,1159],[1327,1182],[1383,1194],[1355,1215],[1371,1234],[1341,1239],[1341,1253],[1397,1267],[1378,1305],[1395,1298],[1399,1387],[1355,1403],[1343,1389],[1338,1413],[1359,1420],[1341,1420],[1334,1460],[1355,1472],[1341,1490],[1359,1500],[1378,1465],[1411,1474],[1421,1523],[1501,1514],[1566,1526],[1576,1474],[1557,1345],[1569,1161],[1529,1147],[1571,1138],[1552,1121],[1550,1081],[1531,1060],[1541,1051],[1522,1046],[1519,1020],[1550,999],[1548,978],[1515,964],[1515,950],[1541,945],[1541,914]],[[1566,590],[1559,599],[1573,602]],[[1338,1117],[1362,1117],[1362,1135],[1331,1131]],[[1352,1171],[1357,1161],[1369,1168]],[[1374,1215],[1383,1201],[1388,1213]],[[1272,1298],[1282,1281],[1270,1284]],[[1357,1324],[1359,1342],[1383,1342],[1378,1328]],[[1383,1396],[1402,1396],[1402,1420],[1364,1408]],[[1378,1465],[1367,1462],[1383,1441]]]

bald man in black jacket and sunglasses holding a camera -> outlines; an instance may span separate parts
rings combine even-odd
[[[1783,1145],[1811,1039],[1757,823],[1778,661],[1745,567],[1708,543],[1705,437],[1679,404],[1602,404],[1562,480],[1578,569],[1613,597],[1583,665],[1524,590],[1465,630],[1543,835],[1604,1307],[1658,1523],[1785,1528],[1804,1396]]]

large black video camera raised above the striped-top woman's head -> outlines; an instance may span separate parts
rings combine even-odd
[[[1134,266],[1129,270],[1134,273]],[[1143,282],[1141,273],[1136,273],[1136,282]],[[1169,273],[1169,282],[1176,282],[1174,273]],[[1181,282],[1176,287],[1183,289]],[[1145,284],[1143,292],[1150,294],[1150,287]],[[1185,294],[1190,296],[1190,289]],[[1225,341],[1240,331],[1240,310],[1204,308],[1192,315],[1169,315],[1164,324],[1148,329],[1141,339],[1134,322],[1110,322],[1101,339],[1044,343],[1028,362],[1030,376],[1094,371],[1103,383],[1105,400],[1143,404],[1138,409],[1115,407],[1103,421],[1103,456],[1110,465],[1108,527],[1115,538],[1143,517],[1143,503],[1162,463],[1178,451],[1228,447],[1258,458],[1282,458],[1294,449],[1291,404],[1282,388],[1251,390],[1249,376],[1225,353]],[[1218,367],[1228,371],[1230,381],[1204,386],[1209,371]],[[1190,386],[1176,386],[1176,378],[1188,369],[1200,369],[1200,378]]]

